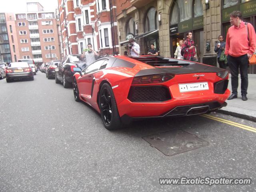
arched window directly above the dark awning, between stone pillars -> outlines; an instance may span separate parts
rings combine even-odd
[[[156,25],[156,8],[152,7],[148,10],[144,22],[144,32],[152,31],[157,29]]]

